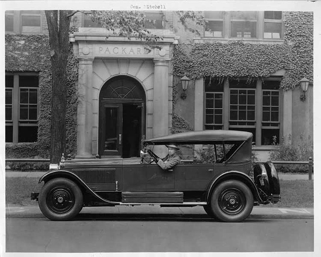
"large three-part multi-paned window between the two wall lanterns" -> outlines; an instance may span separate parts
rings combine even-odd
[[[256,145],[280,143],[280,78],[225,83],[205,78],[204,129],[248,131]]]

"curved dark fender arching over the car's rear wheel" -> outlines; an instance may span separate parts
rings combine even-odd
[[[243,183],[245,183],[250,190],[252,191],[254,199],[256,199],[258,202],[263,204],[263,200],[261,199],[259,192],[252,181],[252,179],[245,173],[241,171],[226,171],[224,173],[218,174],[208,185],[207,187],[207,194],[206,194],[206,201],[209,201],[209,197],[213,189],[215,188],[216,185],[218,185],[220,182],[229,180],[229,179],[236,179],[240,180]]]

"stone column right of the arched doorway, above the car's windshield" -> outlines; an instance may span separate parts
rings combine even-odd
[[[168,60],[154,60],[153,137],[168,134]]]

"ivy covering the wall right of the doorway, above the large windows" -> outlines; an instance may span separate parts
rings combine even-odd
[[[193,81],[206,76],[222,79],[247,77],[251,80],[267,78],[281,69],[285,70],[282,89],[298,87],[303,77],[313,85],[313,12],[285,12],[284,43],[281,44],[244,43],[239,40],[224,43],[214,40],[212,43],[182,42],[174,48],[172,67],[174,85],[184,74]],[[177,108],[178,102],[194,103],[192,97],[181,100],[178,91],[173,90],[173,117],[176,115],[185,120],[190,114],[184,115],[184,111]],[[173,132],[183,128],[184,123],[173,122]]]

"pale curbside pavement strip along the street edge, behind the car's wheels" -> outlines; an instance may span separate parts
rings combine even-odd
[[[17,206],[9,205],[5,208],[6,217],[44,217],[38,205]],[[81,215],[90,218],[118,219],[122,217],[143,219],[163,218],[164,216],[180,218],[209,218],[201,206],[196,207],[160,207],[160,206],[115,206],[115,207],[85,207]],[[115,214],[115,216],[113,215]],[[130,214],[130,215],[128,215]],[[151,216],[148,216],[151,215]],[[313,208],[277,208],[255,206],[249,218],[314,218]]]

